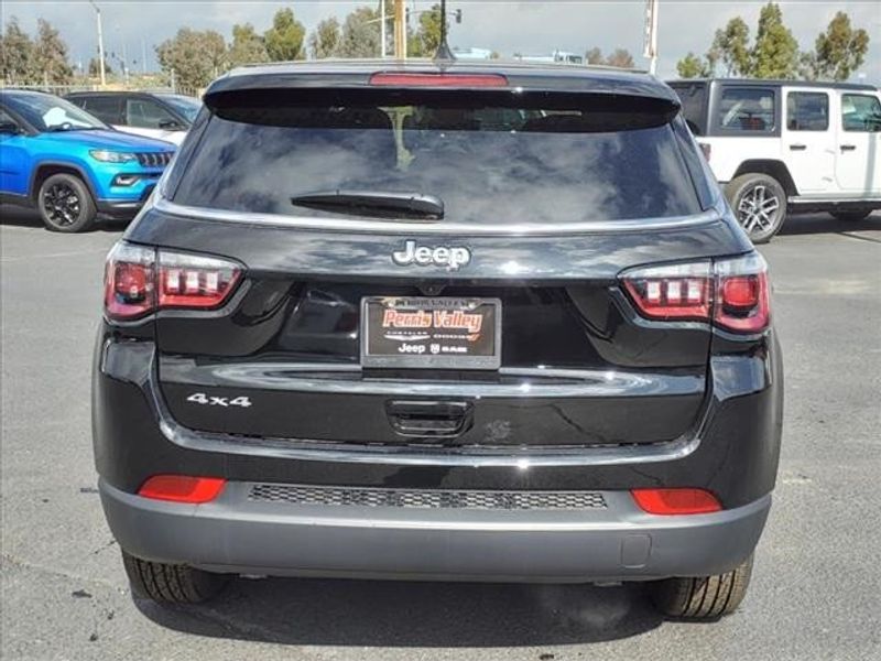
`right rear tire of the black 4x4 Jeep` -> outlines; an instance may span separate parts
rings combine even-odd
[[[652,600],[667,617],[716,620],[740,606],[751,575],[752,555],[725,574],[659,581],[651,587]]]

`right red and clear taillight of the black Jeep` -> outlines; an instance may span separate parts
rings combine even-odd
[[[710,322],[735,333],[760,333],[771,310],[764,259],[733,259],[639,268],[621,281],[650,319]]]

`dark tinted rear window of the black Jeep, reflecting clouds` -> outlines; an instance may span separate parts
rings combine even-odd
[[[278,96],[215,104],[175,202],[337,216],[291,198],[418,192],[444,202],[445,220],[499,225],[700,210],[670,124],[676,107],[666,101],[544,95],[540,104],[522,95],[527,102],[489,104],[449,91],[342,95],[336,102]]]

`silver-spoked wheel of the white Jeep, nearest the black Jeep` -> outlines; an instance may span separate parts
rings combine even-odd
[[[742,174],[725,187],[740,227],[753,243],[766,243],[786,219],[786,192],[773,176]]]

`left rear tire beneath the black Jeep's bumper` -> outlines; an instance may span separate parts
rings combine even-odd
[[[199,604],[217,596],[228,577],[187,565],[164,564],[141,560],[122,552],[122,564],[131,590],[156,604]]]

